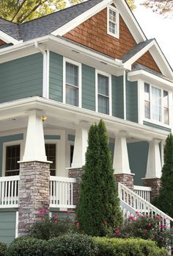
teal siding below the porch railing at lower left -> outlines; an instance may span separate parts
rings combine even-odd
[[[15,239],[16,212],[0,212],[0,242],[10,244]]]

